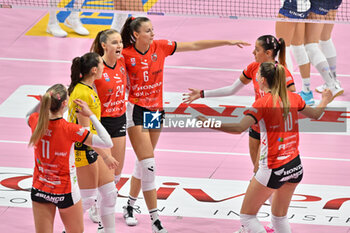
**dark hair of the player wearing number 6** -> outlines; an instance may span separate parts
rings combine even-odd
[[[121,36],[124,48],[127,48],[135,43],[134,32],[139,32],[143,22],[150,21],[147,17],[129,17],[122,28]]]

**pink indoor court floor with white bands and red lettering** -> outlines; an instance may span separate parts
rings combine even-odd
[[[62,21],[66,12],[60,13]],[[111,13],[83,13],[90,30],[87,37],[69,31],[67,38],[48,35],[47,10],[0,9],[0,232],[34,232],[30,192],[33,149],[28,147],[30,129],[26,112],[37,103],[36,95],[55,84],[70,82],[70,65],[88,52],[99,30],[108,28]],[[174,41],[201,39],[245,40],[251,46],[220,47],[199,52],[176,53],[166,59],[165,106],[174,114],[229,114],[242,116],[242,106],[253,103],[253,85],[235,96],[201,99],[182,104],[190,87],[214,89],[230,85],[254,61],[255,40],[274,34],[274,21],[233,20],[204,17],[150,16],[155,38]],[[350,24],[336,24],[333,41],[337,48],[337,73],[345,92],[337,97],[318,121],[300,120],[300,154],[304,178],[293,196],[288,217],[293,233],[350,232]],[[297,91],[301,77],[294,65]],[[312,70],[313,89],[322,84]],[[314,93],[320,100],[320,94]],[[171,110],[170,110],[171,109]],[[225,111],[225,112],[224,112]],[[225,114],[224,114],[225,113]],[[308,128],[311,126],[311,128]],[[239,210],[253,175],[248,133],[232,135],[214,131],[165,130],[155,150],[158,208],[170,233],[232,233],[240,227]],[[128,227],[122,219],[135,154],[129,142],[116,207],[116,232],[150,233],[150,219],[142,200],[139,224]],[[270,206],[259,214],[270,221]],[[85,214],[85,232],[97,225]],[[54,232],[63,225],[56,216]]]

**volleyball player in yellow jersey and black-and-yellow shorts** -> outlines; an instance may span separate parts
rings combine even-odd
[[[76,114],[78,106],[74,100],[85,101],[97,118],[100,118],[101,104],[92,85],[96,79],[101,78],[102,71],[103,62],[98,54],[87,53],[82,57],[76,57],[71,66],[71,84],[68,88],[70,95],[68,120],[83,126],[94,134],[96,134],[96,129],[90,119]],[[115,169],[118,162],[111,156],[110,149],[91,148],[81,143],[76,143],[74,149],[83,211],[94,204],[98,191],[101,196],[100,216],[104,226],[104,229],[99,227],[98,232],[115,233],[116,189],[114,170],[110,169]]]

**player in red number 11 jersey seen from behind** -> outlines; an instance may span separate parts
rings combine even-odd
[[[35,154],[31,199],[37,233],[53,232],[56,207],[67,233],[84,231],[74,165],[74,142],[100,148],[112,147],[108,132],[87,104],[79,99],[75,103],[80,107],[77,111],[91,119],[97,135],[63,119],[68,95],[62,84],[50,87],[42,96],[40,107],[38,104],[27,114],[32,129],[29,145],[34,146]]]

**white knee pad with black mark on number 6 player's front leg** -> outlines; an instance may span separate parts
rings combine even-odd
[[[142,168],[141,187],[142,191],[149,191],[156,188],[156,162],[154,158],[140,161]]]

